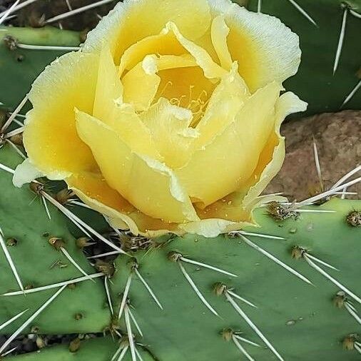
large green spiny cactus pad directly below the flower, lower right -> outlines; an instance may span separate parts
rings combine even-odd
[[[223,329],[231,328],[244,332],[243,337],[261,345],[243,344],[255,360],[276,360],[260,337],[226,302],[224,295],[213,293],[213,285],[220,282],[258,306],[256,309],[235,300],[285,360],[359,360],[356,350],[342,349],[343,338],[360,330],[360,325],[345,308],[339,309],[333,304],[332,299],[340,289],[304,259],[291,257],[295,246],[310,249],[311,255],[340,270],[323,267],[327,273],[355,293],[360,292],[360,282],[355,275],[360,261],[360,229],[352,228],[345,221],[347,213],[354,208],[360,208],[360,202],[331,200],[312,209],[335,210],[335,213],[302,213],[297,220],[280,223],[266,215],[265,209],[258,210],[257,220],[262,228],[256,231],[286,239],[248,238],[305,275],[313,285],[288,273],[240,238],[205,239],[187,235],[151,251],[135,253],[139,272],[164,308],[161,310],[156,305],[134,274],[128,297],[144,335],[141,338],[134,330],[136,340],[149,345],[159,360],[233,361],[240,359],[240,352],[232,341],[227,342],[220,335]],[[255,229],[249,231],[255,232]],[[220,317],[205,307],[185,280],[179,265],[168,259],[171,251],[239,276],[233,278],[182,262]],[[118,258],[116,264],[113,302],[118,310],[131,270],[129,258]]]

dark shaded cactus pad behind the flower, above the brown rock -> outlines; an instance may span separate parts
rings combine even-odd
[[[339,111],[340,108],[360,109],[360,91],[357,91],[344,106],[342,103],[361,79],[361,1],[295,1],[311,19],[307,19],[292,2],[294,1],[248,1],[249,9],[257,11],[260,4],[263,13],[277,16],[300,36],[300,70],[297,75],[285,82],[285,87],[295,91],[309,103],[309,114]],[[342,14],[345,14],[345,11],[345,39],[337,70],[333,74]],[[312,21],[315,24],[312,24]]]

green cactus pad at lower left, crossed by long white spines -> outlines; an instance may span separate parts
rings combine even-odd
[[[5,145],[0,150],[0,163],[15,168],[20,162],[15,151]],[[44,205],[39,196],[28,187],[14,188],[11,174],[0,170],[0,227],[5,240],[14,238],[17,243],[7,247],[24,287],[38,288],[83,275],[59,250],[49,244],[50,237],[62,238],[64,248],[86,273],[96,273],[81,250],[76,248],[73,235],[66,227],[66,220],[56,208],[49,205],[51,220],[47,218]],[[66,267],[64,267],[66,265]],[[4,252],[0,250],[0,293],[19,290],[14,274],[11,272]],[[14,332],[34,311],[51,298],[56,290],[16,296],[0,296],[0,324],[17,313],[29,308],[22,317],[2,333]],[[41,333],[100,332],[109,322],[108,307],[103,293],[101,279],[86,280],[77,283],[74,289],[66,288],[44,312],[36,317],[31,326],[36,326]],[[76,315],[81,314],[81,320]],[[24,330],[29,332],[29,327]]]

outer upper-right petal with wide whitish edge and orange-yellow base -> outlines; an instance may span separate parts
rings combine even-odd
[[[212,16],[224,15],[230,29],[228,48],[238,61],[240,75],[250,91],[270,81],[282,83],[300,65],[298,36],[279,19],[254,13],[230,0],[208,0]]]

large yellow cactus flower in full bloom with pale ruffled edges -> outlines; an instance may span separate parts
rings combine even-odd
[[[229,0],[125,0],[34,82],[14,181],[31,164],[133,233],[238,230],[305,110],[280,96],[299,63],[298,36]]]

